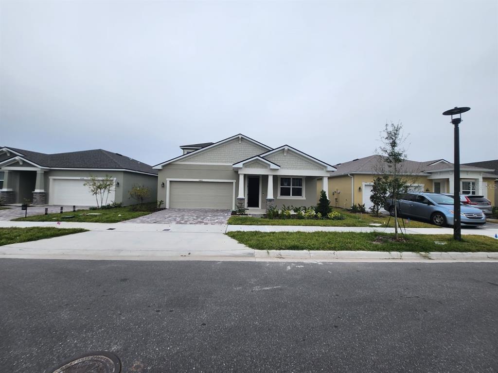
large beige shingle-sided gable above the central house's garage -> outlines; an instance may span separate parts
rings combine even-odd
[[[244,138],[241,139],[239,144],[239,139],[233,139],[226,143],[215,146],[211,149],[201,150],[199,153],[192,154],[189,157],[183,158],[183,162],[199,162],[199,163],[230,163],[234,164],[240,162],[244,159],[254,157],[258,154],[267,151],[267,149],[254,144]]]

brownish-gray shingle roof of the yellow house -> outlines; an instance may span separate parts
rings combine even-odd
[[[355,159],[353,161],[339,163],[337,167],[337,172],[333,176],[347,175],[347,174],[376,174],[378,170],[383,166],[385,167],[385,157],[380,155],[372,155],[369,157]],[[436,159],[426,162],[417,162],[404,160],[400,165],[400,170],[403,173],[416,174],[426,174],[429,175],[431,172],[438,170],[447,170],[453,168],[453,163],[436,163],[441,161],[441,159]],[[436,164],[435,164],[436,163]],[[462,165],[463,166],[463,165]],[[465,165],[465,170],[475,170],[475,171],[489,171],[487,168],[467,166]]]

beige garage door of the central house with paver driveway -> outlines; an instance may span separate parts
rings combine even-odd
[[[234,183],[171,181],[169,189],[170,208],[231,210],[234,204]]]

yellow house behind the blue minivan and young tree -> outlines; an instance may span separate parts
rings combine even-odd
[[[378,175],[384,158],[373,155],[355,159],[350,162],[335,165],[337,171],[329,178],[329,194],[331,205],[349,208],[353,204],[365,204],[369,209],[372,206],[373,179]],[[385,168],[385,165],[384,165]],[[427,162],[406,160],[400,169],[410,175],[412,190],[431,191],[438,193],[453,192],[453,164],[438,159]],[[463,194],[483,194],[496,204],[494,193],[489,188],[494,185],[496,176],[489,167],[460,166],[460,190]],[[318,182],[317,190],[322,188]]]

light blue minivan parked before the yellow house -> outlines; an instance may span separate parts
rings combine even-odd
[[[410,192],[401,194],[396,201],[399,216],[428,220],[432,224],[453,225],[453,197],[441,193]],[[387,197],[384,208],[394,215],[392,197]],[[478,208],[464,203],[460,206],[462,225],[486,224],[486,215]]]

